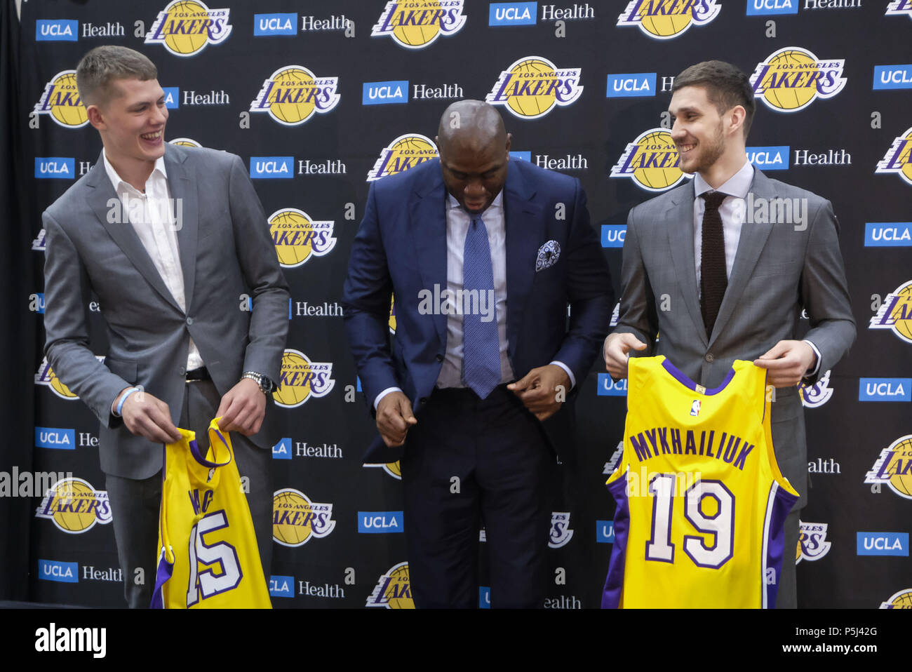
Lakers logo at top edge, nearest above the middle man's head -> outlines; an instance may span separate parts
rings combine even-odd
[[[422,49],[441,35],[450,36],[465,25],[463,0],[393,0],[370,33],[392,37],[399,47]]]

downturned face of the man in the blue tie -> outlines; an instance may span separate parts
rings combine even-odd
[[[472,136],[440,144],[440,168],[447,191],[467,212],[483,212],[503,190],[509,152],[509,134],[505,144],[503,138],[498,141]]]

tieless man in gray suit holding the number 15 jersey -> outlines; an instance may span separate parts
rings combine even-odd
[[[149,58],[126,47],[83,57],[79,95],[104,150],[44,213],[45,352],[101,421],[98,451],[131,607],[150,604],[155,581],[161,444],[180,439],[176,427],[192,429],[204,452],[218,416],[249,480],[269,575],[270,392],[288,328],[287,285],[244,163],[167,144],[157,78]],[[107,325],[103,364],[89,348],[92,292]]]

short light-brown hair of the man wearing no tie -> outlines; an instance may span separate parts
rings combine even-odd
[[[105,45],[88,52],[76,67],[76,88],[83,105],[107,103],[116,79],[148,81],[159,77],[158,68],[148,57],[127,47]]]

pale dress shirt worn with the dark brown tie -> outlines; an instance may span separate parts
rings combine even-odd
[[[747,211],[745,199],[748,191],[751,191],[751,182],[753,182],[753,166],[751,161],[745,157],[741,170],[715,190],[726,194],[725,200],[719,206],[719,215],[722,220],[722,235],[725,239],[725,274],[730,279],[731,267],[735,263],[735,254],[738,253],[738,243],[741,241],[741,226],[745,225],[744,213]],[[703,212],[706,210],[706,202],[700,196],[713,189],[699,172],[693,176],[693,188],[696,194],[696,198],[693,200],[693,261],[697,267],[697,295],[702,298],[700,270],[703,252]],[[820,350],[807,339],[804,340],[804,343],[811,346],[814,356],[816,356],[814,367],[809,368],[805,374],[805,376],[813,376],[820,367]]]

